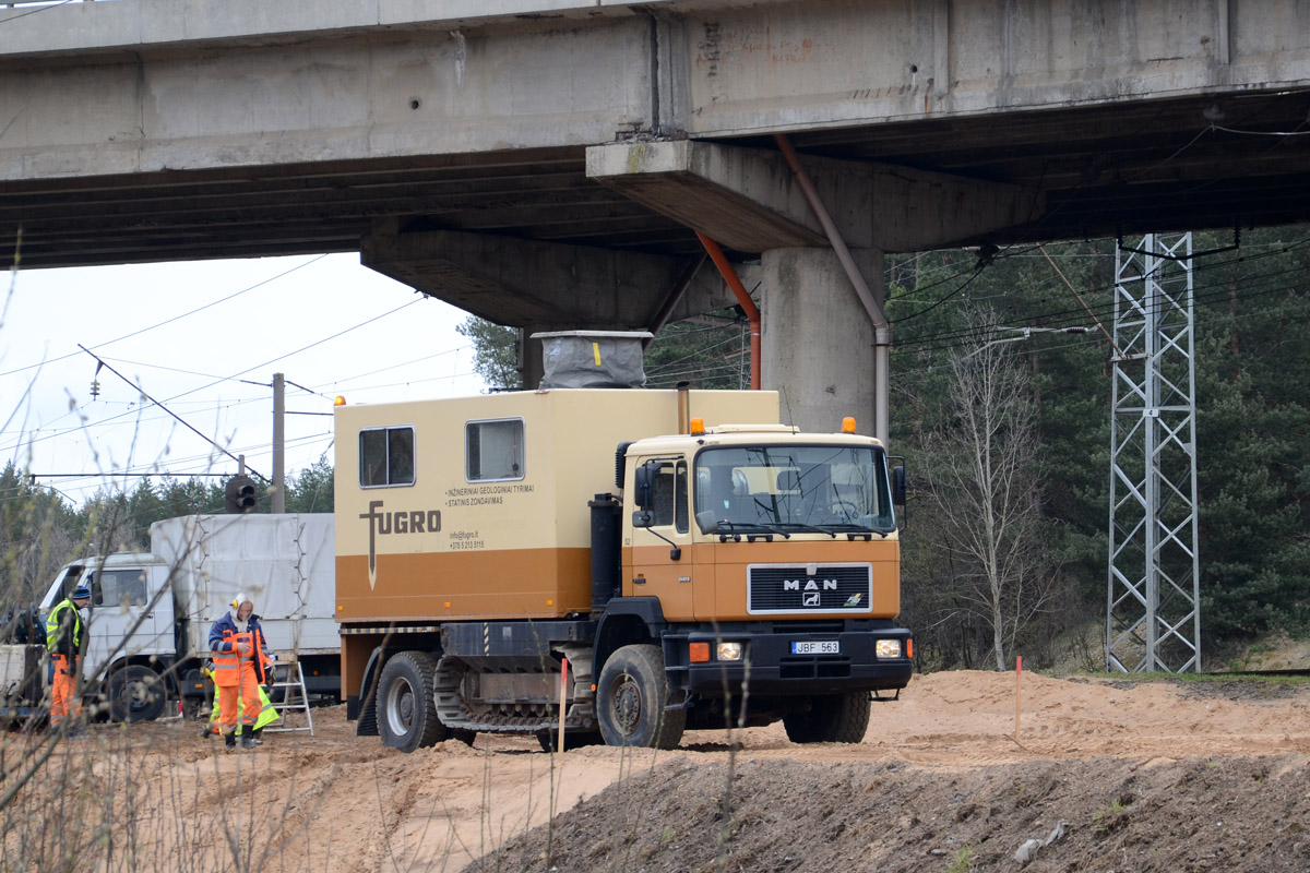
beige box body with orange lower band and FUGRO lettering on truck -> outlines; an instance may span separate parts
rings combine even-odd
[[[591,606],[587,503],[620,442],[677,433],[679,391],[517,391],[337,408],[337,618],[555,618]],[[778,421],[774,391],[688,391],[688,416]],[[523,421],[517,476],[470,480],[470,423]],[[362,431],[413,428],[413,484],[360,484]]]

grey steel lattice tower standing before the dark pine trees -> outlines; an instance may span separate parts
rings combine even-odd
[[[1201,666],[1192,234],[1119,243],[1106,670]]]

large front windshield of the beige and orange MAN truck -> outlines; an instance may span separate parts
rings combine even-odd
[[[875,446],[722,446],[696,455],[696,512],[723,526],[804,533],[896,527],[887,458]]]

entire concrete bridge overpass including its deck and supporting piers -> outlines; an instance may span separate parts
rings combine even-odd
[[[796,418],[827,427],[871,406],[876,336],[776,135],[875,298],[884,251],[1305,221],[1307,18],[1301,0],[20,1],[0,8],[0,257],[362,250],[502,323],[638,327],[700,230],[762,283],[766,385],[823,398]],[[676,312],[723,300],[702,270]]]

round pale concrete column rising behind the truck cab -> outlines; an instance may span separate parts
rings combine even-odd
[[[882,301],[883,253],[852,249]],[[831,249],[770,249],[761,255],[765,389],[779,391],[782,420],[834,432],[855,416],[874,433],[874,326]]]

